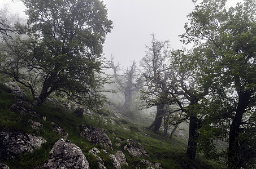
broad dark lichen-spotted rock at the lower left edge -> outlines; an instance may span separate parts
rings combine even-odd
[[[18,131],[0,131],[0,160],[7,161],[19,157],[19,154],[33,152],[46,140]]]

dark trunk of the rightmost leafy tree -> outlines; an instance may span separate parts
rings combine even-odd
[[[238,94],[239,100],[236,108],[236,114],[233,118],[229,130],[229,145],[228,145],[228,166],[229,168],[240,168],[243,163],[240,155],[239,140],[237,136],[240,132],[240,125],[242,123],[242,115],[245,113],[246,106],[249,103],[250,94]]]

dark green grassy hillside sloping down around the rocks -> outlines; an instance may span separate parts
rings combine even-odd
[[[149,126],[147,123],[131,121],[127,118],[118,118],[115,115],[115,113],[118,113],[118,110],[112,105],[99,109],[92,116],[84,115],[83,118],[79,118],[72,113],[73,110],[67,110],[60,104],[46,101],[42,106],[34,109],[42,117],[46,117],[46,121],[32,118],[33,121],[40,122],[43,125],[40,131],[33,130],[30,127],[31,122],[29,122],[31,117],[10,111],[9,108],[14,102],[14,95],[10,91],[5,85],[0,84],[0,129],[12,129],[31,133],[36,136],[42,136],[47,141],[47,143],[42,145],[42,148],[35,150],[33,153],[20,155],[19,159],[13,161],[2,161],[2,163],[6,163],[10,168],[34,168],[47,161],[51,148],[60,138],[53,132],[51,122],[59,124],[68,133],[67,139],[83,150],[90,168],[98,168],[98,164],[97,159],[90,155],[88,151],[94,147],[100,149],[101,146],[92,145],[89,141],[80,137],[80,130],[78,128],[83,124],[105,130],[114,149],[109,149],[109,154],[114,154],[116,150],[120,149],[127,158],[129,166],[123,166],[123,168],[147,167],[140,163],[141,158],[133,157],[123,149],[127,139],[138,141],[149,152],[151,157],[149,160],[162,163],[164,168],[225,168],[222,164],[207,161],[203,158],[203,155],[197,156],[196,161],[190,161],[185,155],[185,140],[176,136],[169,139],[161,133],[153,134],[153,132],[147,130],[146,127]],[[109,154],[101,153],[99,156],[103,159],[107,168],[113,168]]]

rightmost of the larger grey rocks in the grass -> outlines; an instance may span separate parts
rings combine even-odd
[[[127,141],[128,143],[124,146],[124,150],[127,150],[135,157],[150,157],[149,153],[146,152],[140,143],[132,139],[128,139]]]

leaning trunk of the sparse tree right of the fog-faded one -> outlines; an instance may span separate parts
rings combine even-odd
[[[163,115],[164,115],[164,104],[159,104],[157,105],[157,115],[155,115],[155,121],[149,127],[150,130],[154,131],[154,133],[157,133],[159,131],[159,128],[161,127],[161,124],[162,124]]]

